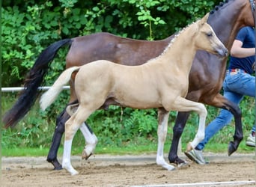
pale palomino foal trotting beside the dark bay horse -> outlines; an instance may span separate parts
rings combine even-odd
[[[195,139],[189,144],[194,148],[204,138],[207,110],[203,104],[185,99],[189,86],[189,70],[198,49],[224,57],[228,50],[207,24],[207,16],[180,31],[159,57],[140,66],[124,66],[111,61],[94,61],[81,67],[71,67],[40,99],[41,108],[48,107],[70,81],[73,72],[78,108],[65,123],[64,156],[62,167],[70,174],[78,174],[70,162],[73,137],[82,123],[102,106],[121,105],[130,108],[158,108],[157,165],[174,170],[163,156],[169,111],[196,111],[199,126]]]

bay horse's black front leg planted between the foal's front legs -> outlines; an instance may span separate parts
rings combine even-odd
[[[177,114],[177,118],[175,120],[175,124],[174,124],[174,128],[173,128],[174,135],[173,135],[173,138],[171,141],[171,148],[170,148],[169,155],[168,155],[168,159],[169,159],[170,163],[174,163],[177,165],[180,165],[180,164],[182,165],[185,163],[182,159],[180,159],[177,156],[177,148],[178,148],[178,144],[180,141],[180,136],[182,135],[183,129],[186,125],[186,121],[189,118],[189,114],[190,114],[189,111],[188,112],[178,112],[178,114]]]

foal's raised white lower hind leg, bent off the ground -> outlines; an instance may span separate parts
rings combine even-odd
[[[94,133],[91,134],[91,131],[88,129],[85,123],[82,123],[80,130],[85,137],[85,148],[82,151],[82,159],[88,159],[89,156],[94,153],[98,139]]]

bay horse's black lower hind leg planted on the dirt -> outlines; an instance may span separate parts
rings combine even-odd
[[[58,152],[58,147],[61,144],[62,135],[65,131],[65,123],[69,118],[70,118],[70,115],[67,114],[66,108],[65,108],[64,111],[61,112],[61,114],[57,117],[57,120],[56,120],[56,127],[52,137],[52,146],[47,156],[47,161],[52,163],[55,170],[62,169],[62,166],[57,159],[57,152]]]

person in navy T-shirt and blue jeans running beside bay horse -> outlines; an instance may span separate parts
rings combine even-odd
[[[244,96],[255,97],[255,76],[253,64],[255,62],[255,30],[252,27],[243,27],[237,34],[231,47],[231,57],[228,70],[223,82],[225,98],[237,103],[241,102]],[[233,114],[230,111],[221,109],[219,116],[213,120],[205,129],[204,140],[195,149],[186,152],[186,156],[192,161],[204,165],[209,162],[204,160],[203,150],[210,138],[220,129],[231,122]],[[246,145],[255,147],[255,129],[246,140]]]

